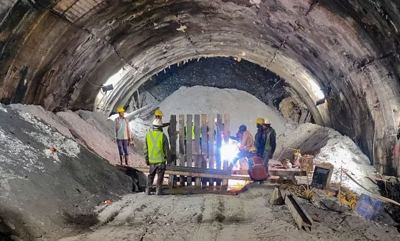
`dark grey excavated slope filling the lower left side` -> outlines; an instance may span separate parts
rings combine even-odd
[[[132,179],[104,158],[42,119],[1,104],[0,146],[2,240],[54,240],[84,230],[98,222],[93,207],[133,189]]]

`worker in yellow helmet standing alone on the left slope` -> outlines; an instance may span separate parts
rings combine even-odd
[[[118,152],[119,152],[119,161],[121,165],[124,165],[123,160],[125,158],[125,165],[129,164],[129,153],[128,153],[128,145],[129,143],[133,146],[133,139],[131,138],[130,129],[129,129],[129,121],[128,118],[124,117],[125,110],[123,107],[118,107],[116,112],[118,113],[118,117],[115,119],[115,139]]]

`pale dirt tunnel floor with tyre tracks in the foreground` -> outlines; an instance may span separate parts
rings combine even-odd
[[[238,195],[128,194],[100,207],[100,223],[74,240],[399,240],[395,228],[353,213],[324,211],[302,201],[314,220],[298,230],[286,206],[272,206],[271,186],[251,185]]]

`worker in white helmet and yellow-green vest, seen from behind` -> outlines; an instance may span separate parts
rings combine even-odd
[[[148,131],[145,141],[145,160],[147,166],[150,166],[147,176],[146,193],[150,195],[150,187],[153,185],[155,174],[157,174],[156,194],[162,195],[164,182],[164,173],[166,164],[171,162],[168,137],[163,133],[163,122],[161,119],[154,119],[153,130]]]

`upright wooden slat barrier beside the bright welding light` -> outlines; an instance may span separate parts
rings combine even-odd
[[[177,171],[175,170],[175,174],[170,173],[171,177],[168,180],[169,187],[176,187],[176,181],[174,183],[174,180],[177,178],[175,178],[174,175],[179,176],[179,186],[185,186],[185,183],[187,186],[191,186],[193,181],[195,187],[205,188],[207,186],[221,186],[222,179],[217,177],[230,176],[229,173],[221,175],[220,172],[222,171],[222,166],[224,169],[228,167],[227,160],[224,160],[224,164],[222,165],[221,146],[223,141],[229,142],[230,116],[227,114],[217,114],[217,121],[215,123],[214,115],[188,114],[185,119],[185,115],[181,114],[178,116],[178,126],[176,125],[176,115],[171,115],[168,135],[170,137],[172,166],[182,168],[208,168],[219,172],[213,176],[193,176],[187,175],[191,173],[189,170],[180,172],[179,174],[176,174]],[[194,136],[192,136],[192,126]],[[223,131],[227,133],[224,135],[224,139],[222,137]],[[178,148],[176,148],[177,142]],[[178,155],[176,149],[178,149]],[[225,178],[223,181],[224,188],[227,187],[227,185],[228,179]]]

